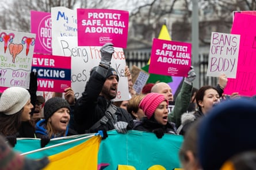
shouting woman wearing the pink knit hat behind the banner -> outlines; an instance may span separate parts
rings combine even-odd
[[[162,138],[165,133],[177,134],[175,125],[167,120],[168,101],[163,94],[148,93],[140,101],[139,108],[146,117],[142,118],[140,124],[133,126],[134,130],[154,132],[158,138]]]

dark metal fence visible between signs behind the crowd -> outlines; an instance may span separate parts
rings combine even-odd
[[[129,68],[132,68],[133,65],[136,65],[139,68],[147,65],[148,59],[150,58],[151,49],[143,50],[124,50],[126,63]],[[208,67],[208,54],[201,53],[199,54],[199,87],[203,85],[217,85],[216,77],[207,77],[207,67]],[[197,68],[195,68],[197,69]]]

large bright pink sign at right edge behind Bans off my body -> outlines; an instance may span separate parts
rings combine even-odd
[[[224,93],[238,92],[242,96],[256,94],[256,16],[236,13],[231,34],[240,34],[236,78],[228,78]]]

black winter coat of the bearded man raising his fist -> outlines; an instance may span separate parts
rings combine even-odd
[[[101,73],[106,75],[107,69],[101,68]],[[98,120],[100,120],[106,112],[111,101],[106,100],[104,96],[99,96],[101,89],[106,80],[105,76],[102,76],[97,70],[91,73],[89,81],[86,84],[85,91],[82,96],[78,98],[75,102],[74,107],[74,119],[75,119],[75,130],[79,134],[87,133],[88,130],[93,126]],[[116,110],[117,121],[128,122],[128,126],[132,128],[132,117],[127,112],[127,110],[117,108]],[[109,120],[107,124],[101,124],[97,129],[90,129],[90,133],[98,132],[99,130],[112,130],[114,129],[113,123]]]

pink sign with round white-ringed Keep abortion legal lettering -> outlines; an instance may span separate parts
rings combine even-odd
[[[51,13],[30,11],[31,33],[36,34],[35,53],[52,54]]]

